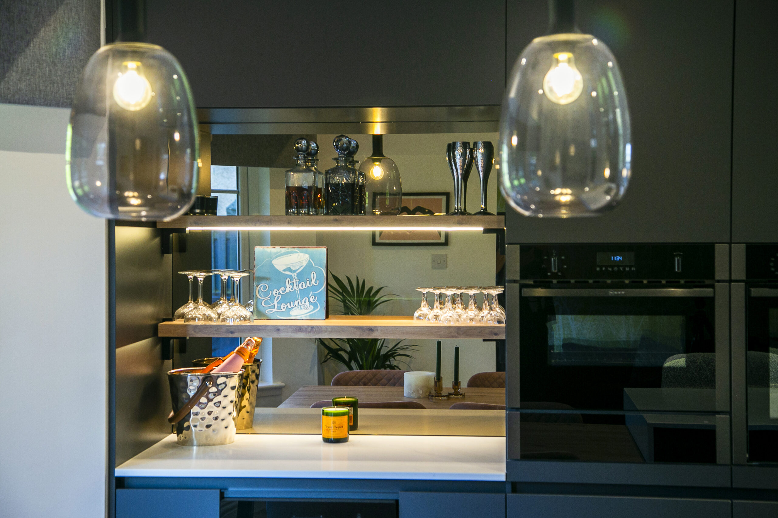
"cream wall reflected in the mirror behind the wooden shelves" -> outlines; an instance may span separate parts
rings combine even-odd
[[[350,135],[359,141],[358,160],[370,155],[370,135]],[[331,168],[335,162],[332,139],[335,135],[318,135],[319,169]],[[384,153],[398,164],[405,192],[449,192],[451,209],[454,188],[446,162],[446,144],[451,141],[492,141],[497,134],[391,134],[384,136]],[[289,165],[292,165],[289,158]],[[270,214],[284,214],[284,169],[269,169]],[[496,209],[497,179],[489,180],[488,207]],[[468,209],[480,207],[478,176],[471,174],[468,184]],[[250,193],[250,196],[255,196]],[[329,268],[340,277],[359,275],[368,284],[388,286],[385,292],[397,294],[398,300],[384,304],[384,315],[412,315],[419,307],[421,295],[416,287],[441,285],[492,285],[495,282],[495,236],[478,232],[454,232],[448,246],[373,246],[370,232],[273,232],[273,246],[327,246]],[[431,255],[448,256],[447,269],[432,269]],[[430,297],[431,298],[431,297]],[[335,304],[337,305],[337,304]],[[331,308],[332,309],[332,308]],[[410,362],[412,370],[435,370],[434,340],[408,340],[421,346]],[[443,379],[450,383],[454,370],[454,346],[461,346],[460,379],[463,384],[472,374],[495,369],[494,342],[481,340],[443,340]],[[342,367],[328,363],[317,372],[318,353],[311,339],[274,339],[272,350],[272,381],[286,384],[282,399],[300,386],[328,384]]]

